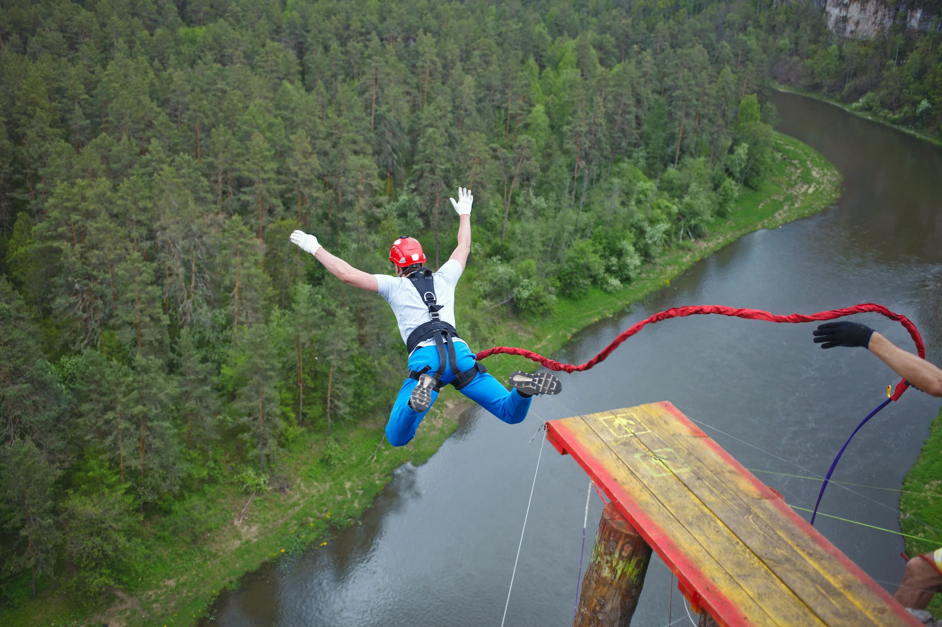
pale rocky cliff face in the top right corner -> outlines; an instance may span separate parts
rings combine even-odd
[[[828,28],[841,37],[872,39],[894,23],[907,30],[937,29],[937,3],[885,2],[885,0],[823,0]]]

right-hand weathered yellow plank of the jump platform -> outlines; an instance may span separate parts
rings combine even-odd
[[[784,519],[752,482],[707,446],[707,438],[679,435],[673,416],[657,405],[628,411],[650,426],[636,434],[652,450],[671,449],[692,472],[677,478],[747,546],[782,582],[827,624],[885,624],[888,608],[850,572],[834,568],[808,537]],[[600,434],[603,435],[603,434]],[[769,490],[771,493],[771,490]],[[772,496],[771,498],[778,498]],[[791,533],[788,533],[791,532]],[[861,594],[861,592],[863,594]],[[861,616],[849,616],[854,605]]]

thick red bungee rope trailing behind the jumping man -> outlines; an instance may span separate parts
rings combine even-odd
[[[517,348],[515,346],[495,346],[494,348],[488,348],[487,350],[482,350],[478,353],[477,359],[483,360],[491,355],[497,353],[503,353],[505,355],[519,355],[520,357],[526,357],[528,360],[533,362],[542,363],[545,367],[550,370],[555,370],[557,372],[582,372],[583,370],[589,370],[596,363],[604,362],[606,358],[609,357],[611,351],[618,346],[621,346],[625,340],[629,337],[642,330],[645,325],[654,324],[660,322],[661,320],[667,320],[669,318],[682,318],[688,315],[705,315],[705,314],[719,314],[719,315],[728,315],[737,318],[745,318],[747,320],[765,320],[767,322],[821,322],[826,320],[834,320],[835,318],[840,318],[845,315],[853,314],[882,314],[885,315],[890,320],[895,320],[899,322],[907,331],[909,335],[913,338],[913,342],[916,344],[916,350],[919,357],[922,359],[926,358],[926,347],[922,344],[922,336],[919,335],[919,331],[916,328],[909,318],[905,315],[896,314],[886,309],[883,305],[877,305],[872,302],[865,302],[859,305],[853,305],[853,307],[845,307],[843,309],[834,309],[827,312],[819,312],[817,314],[789,314],[789,315],[776,315],[770,314],[769,312],[763,312],[758,309],[741,309],[736,307],[725,307],[723,305],[691,305],[688,307],[674,307],[664,312],[658,312],[653,314],[635,324],[631,325],[628,329],[625,329],[618,334],[614,340],[612,340],[609,346],[606,346],[602,351],[593,357],[591,360],[585,363],[579,363],[574,365],[572,363],[561,363],[551,360],[539,353],[535,353],[532,350],[527,350],[526,348]],[[896,401],[900,398],[903,392],[906,391],[906,388],[909,387],[909,383],[905,379],[901,380],[897,386],[896,390],[891,396],[891,399]]]

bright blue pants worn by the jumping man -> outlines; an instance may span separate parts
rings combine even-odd
[[[458,358],[458,369],[464,372],[474,365],[474,353],[463,342],[455,342],[454,345],[455,356]],[[438,364],[438,348],[435,346],[416,348],[412,357],[409,358],[409,368],[412,370],[421,370],[428,365],[431,366],[431,372],[434,372],[438,369]],[[451,365],[446,361],[442,381],[450,383],[454,378],[454,375],[451,374]],[[402,387],[399,388],[396,404],[393,406],[393,411],[389,414],[389,422],[386,424],[386,439],[393,446],[402,446],[409,443],[415,437],[415,429],[418,428],[419,423],[422,422],[425,414],[429,411],[425,410],[419,413],[409,407],[409,397],[417,384],[418,381],[414,378],[407,378],[402,381]],[[521,396],[516,390],[507,392],[507,389],[497,379],[488,373],[480,372],[473,381],[462,388],[461,393],[508,425],[523,422],[524,418],[527,417],[530,400],[532,400],[529,396]],[[432,404],[434,404],[437,397],[437,392],[431,393]]]

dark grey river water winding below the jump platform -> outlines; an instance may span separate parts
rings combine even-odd
[[[631,314],[584,330],[566,346],[568,361],[584,362],[631,323],[679,305],[790,314],[872,301],[909,316],[939,362],[942,151],[830,104],[785,93],[772,100],[778,129],[819,150],[844,175],[836,207],[742,237]],[[877,314],[855,319],[912,348],[897,323]],[[720,316],[670,320],[645,328],[592,371],[563,376],[563,393],[535,399],[521,425],[467,410],[426,464],[396,472],[362,525],[319,551],[247,575],[216,603],[217,624],[499,625],[541,455],[541,440],[530,439],[542,420],[670,400],[757,447],[705,427],[748,468],[824,474],[897,378],[863,349],[820,350],[811,330]],[[926,394],[905,394],[858,433],[835,478],[899,489],[938,409]],[[756,475],[790,505],[814,506],[818,482]],[[588,487],[572,458],[544,446],[507,625],[571,624]],[[820,511],[899,530],[897,493],[853,490],[832,485]],[[602,502],[593,493],[589,505],[587,557]],[[816,526],[895,589],[903,567],[898,536],[829,518]],[[921,533],[942,545],[942,530]],[[653,559],[634,624],[657,627],[681,616],[686,623],[680,595],[674,592],[672,606],[670,590],[669,572]]]

